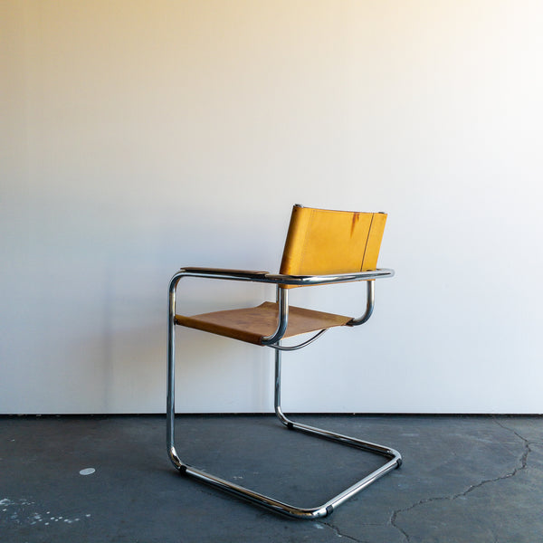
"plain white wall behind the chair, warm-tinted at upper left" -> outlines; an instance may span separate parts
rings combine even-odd
[[[0,412],[164,411],[169,277],[276,271],[293,203],[386,210],[396,277],[285,357],[285,409],[543,412],[541,2],[0,5]],[[218,287],[183,310],[273,296]],[[271,409],[269,350],[179,347],[179,411]]]

